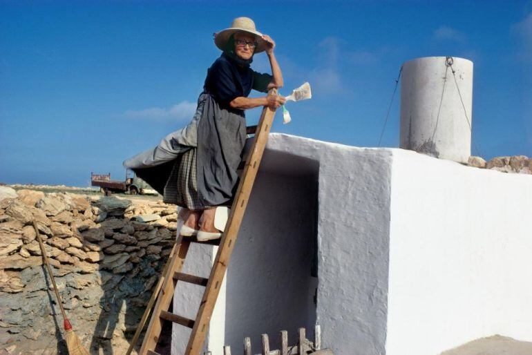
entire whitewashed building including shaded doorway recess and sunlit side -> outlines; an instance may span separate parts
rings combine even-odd
[[[251,336],[257,353],[260,334],[276,346],[287,329],[294,343],[297,327],[315,321],[336,355],[438,354],[493,334],[532,340],[531,216],[530,175],[274,133],[209,349],[238,354]],[[188,272],[208,275],[213,249],[203,248]],[[174,307],[194,318],[201,294],[189,291]],[[174,350],[189,334],[177,332]]]

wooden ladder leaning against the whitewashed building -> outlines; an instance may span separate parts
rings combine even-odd
[[[269,90],[268,94],[276,95],[276,93],[276,89],[273,88],[272,90]],[[144,316],[142,316],[140,324],[137,327],[137,332],[135,332],[135,336],[133,336],[131,345],[126,354],[131,354],[131,351],[140,336],[140,332],[142,332],[142,328],[144,328],[144,323],[149,315],[149,311],[156,300],[139,354],[158,354],[155,352],[155,346],[159,340],[162,322],[163,320],[170,320],[173,323],[192,328],[189,343],[184,355],[200,355],[203,343],[205,342],[205,337],[207,336],[207,329],[209,328],[214,305],[216,304],[216,299],[220,292],[225,271],[227,270],[227,265],[229,265],[231,252],[233,251],[238,236],[238,230],[240,229],[247,202],[249,201],[249,195],[251,194],[251,189],[255,182],[258,166],[263,157],[269,130],[272,128],[274,115],[275,110],[265,106],[262,115],[260,115],[258,125],[256,127],[248,127],[247,129],[247,133],[255,133],[255,137],[251,146],[251,151],[247,155],[243,173],[240,175],[240,184],[238,185],[236,195],[234,196],[234,202],[231,206],[231,212],[229,213],[229,219],[227,220],[225,231],[222,233],[221,239],[203,242],[203,244],[219,245],[218,253],[216,253],[216,259],[214,260],[209,278],[202,278],[181,272],[190,243],[198,242],[198,240],[191,237],[178,236],[178,240],[175,242],[169,255],[167,264],[162,271],[162,276],[158,285],[155,287],[155,291],[149,300]],[[175,285],[178,280],[205,287],[205,292],[203,293],[200,308],[195,320],[184,318],[168,311],[175,290]]]

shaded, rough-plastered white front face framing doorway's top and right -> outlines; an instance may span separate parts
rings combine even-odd
[[[273,134],[267,148],[319,161],[319,288],[323,346],[384,354],[392,152]]]

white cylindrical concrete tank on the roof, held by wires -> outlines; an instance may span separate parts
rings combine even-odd
[[[466,163],[471,155],[473,61],[417,58],[403,64],[401,75],[400,147]]]

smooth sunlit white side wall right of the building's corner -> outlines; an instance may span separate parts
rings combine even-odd
[[[532,340],[532,176],[394,150],[386,354]]]

